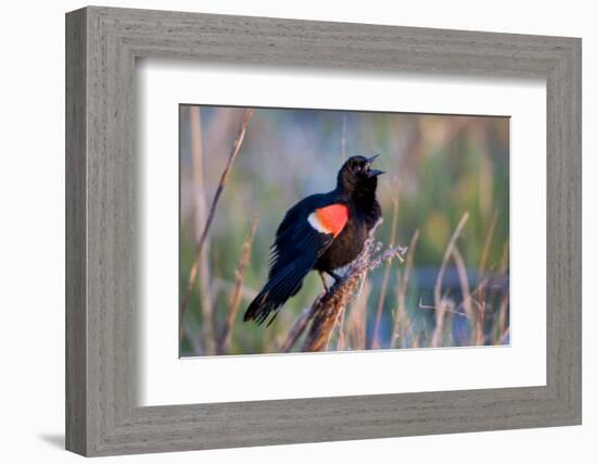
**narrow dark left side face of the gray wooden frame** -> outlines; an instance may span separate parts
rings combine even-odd
[[[66,22],[66,448],[87,450],[86,14]]]

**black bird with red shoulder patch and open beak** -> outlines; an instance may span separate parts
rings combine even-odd
[[[328,193],[317,193],[292,206],[276,233],[265,287],[246,309],[244,321],[262,324],[298,292],[309,271],[334,273],[352,262],[363,249],[369,230],[381,217],[376,199],[378,175],[371,158],[352,156],[338,173],[338,184]],[[323,280],[325,285],[325,280]]]

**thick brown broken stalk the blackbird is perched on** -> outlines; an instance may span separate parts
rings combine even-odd
[[[403,247],[388,248],[385,251],[378,253],[380,246],[376,243],[374,231],[380,223],[371,229],[363,251],[347,266],[345,275],[315,301],[312,310],[310,327],[303,344],[303,351],[323,351],[327,349],[340,313],[346,308],[350,298],[365,278],[367,272],[396,256],[404,261],[403,254],[406,249]],[[378,255],[373,258],[373,253],[378,253]]]

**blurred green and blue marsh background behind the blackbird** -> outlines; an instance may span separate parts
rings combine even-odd
[[[180,106],[181,296],[244,112],[243,108]],[[377,340],[372,340],[372,334],[383,267],[369,274],[365,301],[360,302],[365,340],[351,342],[348,338],[343,349],[433,344],[437,272],[452,234],[467,212],[469,220],[457,248],[466,268],[473,317],[465,314],[467,289],[450,256],[442,286],[442,301],[448,313],[434,346],[509,343],[508,117],[256,109],[217,206],[199,277],[181,321],[181,356],[215,353],[214,346],[228,317],[234,272],[255,218],[258,222],[243,274],[242,300],[220,354],[279,351],[298,314],[321,291],[321,281],[310,273],[270,327],[242,322],[246,305],[266,281],[276,229],[285,211],[298,200],[334,188],[338,170],[346,156],[373,153],[382,153],[376,167],[386,172],[378,189],[384,215],[378,239],[385,246],[390,243],[395,204],[395,241],[407,246],[416,230],[419,235],[415,249],[409,251],[412,267],[398,333],[393,337],[405,264],[394,261],[388,269]],[[350,305],[346,325],[352,324],[351,311]],[[334,338],[329,349],[335,343]]]

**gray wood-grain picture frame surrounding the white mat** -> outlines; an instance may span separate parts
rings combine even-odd
[[[138,406],[135,66],[148,57],[545,78],[547,385]],[[66,180],[71,451],[107,455],[581,424],[577,38],[77,10],[66,15]]]

